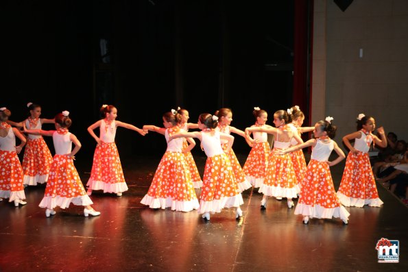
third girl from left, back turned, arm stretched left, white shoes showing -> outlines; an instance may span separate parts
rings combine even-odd
[[[68,208],[72,202],[77,206],[84,206],[84,216],[89,214],[94,217],[101,214],[95,211],[91,205],[93,202],[86,195],[77,169],[73,165],[75,154],[80,150],[81,143],[74,134],[68,131],[72,121],[69,118],[69,112],[66,110],[55,117],[56,130],[27,129],[24,131],[28,134],[40,134],[43,136],[52,136],[56,154],[53,156],[47,187],[43,200],[40,202],[41,208],[46,208],[45,216],[50,217],[56,214],[54,208]],[[75,148],[72,150],[72,143]]]

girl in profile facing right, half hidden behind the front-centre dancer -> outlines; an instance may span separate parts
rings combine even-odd
[[[241,129],[237,129],[236,127],[232,127],[230,125],[232,122],[232,110],[230,108],[221,108],[217,110],[214,115],[218,117],[219,123],[217,126],[217,130],[219,130],[219,132],[222,132],[225,134],[231,134],[231,133],[238,134],[239,136],[242,136],[245,138],[248,145],[250,146],[252,145],[252,142],[254,140],[250,136],[246,138],[245,132],[243,132]],[[237,156],[235,156],[234,150],[232,150],[232,148],[227,150],[227,147],[228,147],[227,140],[221,139],[221,147],[225,151],[225,153],[228,155],[228,158],[230,158],[232,171],[234,171],[234,175],[235,175],[235,179],[237,180],[239,191],[243,192],[244,190],[251,188],[252,184],[246,179],[245,173],[243,173],[241,164],[239,164],[238,158]]]

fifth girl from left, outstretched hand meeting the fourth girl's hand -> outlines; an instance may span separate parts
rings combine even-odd
[[[187,138],[190,145],[183,149],[184,138],[169,140],[169,138],[183,129],[178,126],[182,116],[176,110],[163,114],[163,127],[143,125],[143,130],[163,134],[167,142],[167,150],[158,164],[149,191],[141,200],[142,204],[150,208],[168,208],[171,210],[189,212],[197,210],[200,204],[191,180],[189,165],[183,152],[190,152],[195,147],[195,141]]]

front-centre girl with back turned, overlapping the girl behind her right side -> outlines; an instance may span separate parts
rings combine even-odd
[[[210,220],[210,212],[221,212],[223,208],[237,207],[236,218],[242,217],[242,195],[239,192],[235,175],[232,172],[231,163],[221,147],[221,139],[226,141],[226,151],[229,151],[234,143],[234,137],[215,130],[218,125],[218,117],[209,113],[200,114],[198,127],[201,132],[183,132],[171,136],[171,139],[180,137],[198,138],[207,160],[204,166],[203,188],[200,195],[200,208],[198,212],[202,218]]]

